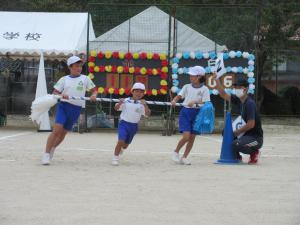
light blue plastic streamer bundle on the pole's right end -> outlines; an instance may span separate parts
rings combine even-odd
[[[193,130],[199,134],[211,134],[215,127],[215,108],[211,102],[205,102],[195,119]]]

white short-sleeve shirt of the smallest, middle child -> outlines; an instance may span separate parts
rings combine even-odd
[[[142,116],[145,116],[145,107],[140,103],[128,102],[130,98],[126,98],[125,102],[120,106],[120,119],[129,123],[138,123]]]

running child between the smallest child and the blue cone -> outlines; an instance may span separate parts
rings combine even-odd
[[[171,102],[175,105],[177,101],[184,98],[184,106],[179,114],[179,131],[182,133],[182,138],[179,140],[175,151],[172,153],[172,160],[175,163],[183,165],[191,165],[187,159],[197,132],[193,130],[193,125],[199,108],[193,108],[195,104],[203,104],[210,101],[209,89],[205,86],[205,69],[201,66],[194,66],[189,68],[190,84],[182,87],[181,91]],[[180,149],[186,144],[185,152],[182,157],[179,155]]]

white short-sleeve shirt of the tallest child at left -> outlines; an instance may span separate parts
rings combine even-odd
[[[62,94],[75,97],[84,97],[86,91],[91,90],[95,87],[93,81],[85,75],[80,76],[64,76],[59,79],[59,81],[54,85],[54,89]],[[85,101],[83,100],[65,100],[64,102],[69,102],[70,104],[85,107]]]

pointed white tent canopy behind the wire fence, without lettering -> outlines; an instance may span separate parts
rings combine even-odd
[[[184,51],[222,51],[220,46],[171,18],[171,52],[173,46],[174,23],[177,26],[177,52]],[[151,6],[117,27],[97,37],[90,43],[90,49],[98,51],[150,51],[168,52],[169,15],[155,6]]]

